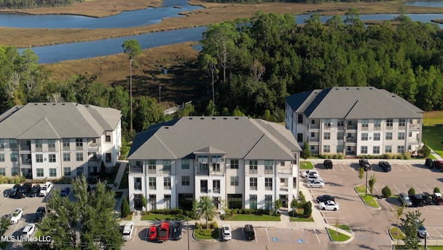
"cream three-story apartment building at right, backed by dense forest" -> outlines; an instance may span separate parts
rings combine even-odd
[[[414,153],[422,146],[424,111],[386,90],[334,87],[285,99],[285,126],[311,153]]]

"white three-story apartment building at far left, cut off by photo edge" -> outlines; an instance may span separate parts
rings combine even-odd
[[[0,175],[56,179],[115,166],[121,113],[75,103],[28,103],[0,115]]]

